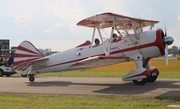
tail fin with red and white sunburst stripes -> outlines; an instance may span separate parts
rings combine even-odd
[[[23,41],[14,53],[13,65],[16,66],[20,63],[27,63],[42,57],[44,57],[44,55],[31,42]]]

